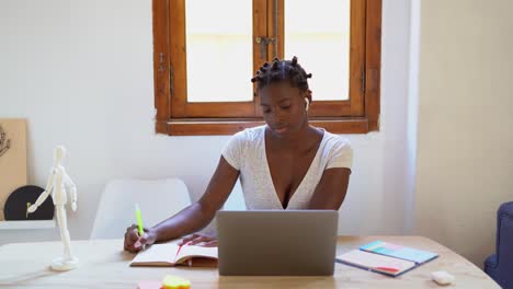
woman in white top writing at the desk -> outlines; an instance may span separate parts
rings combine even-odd
[[[240,177],[248,209],[339,209],[351,174],[352,149],[347,140],[308,125],[311,91],[297,62],[265,62],[251,80],[265,126],[231,137],[202,198],[175,216],[145,228],[126,230],[125,250],[138,252],[206,227],[221,208]],[[213,235],[192,234],[183,243],[216,245]]]

